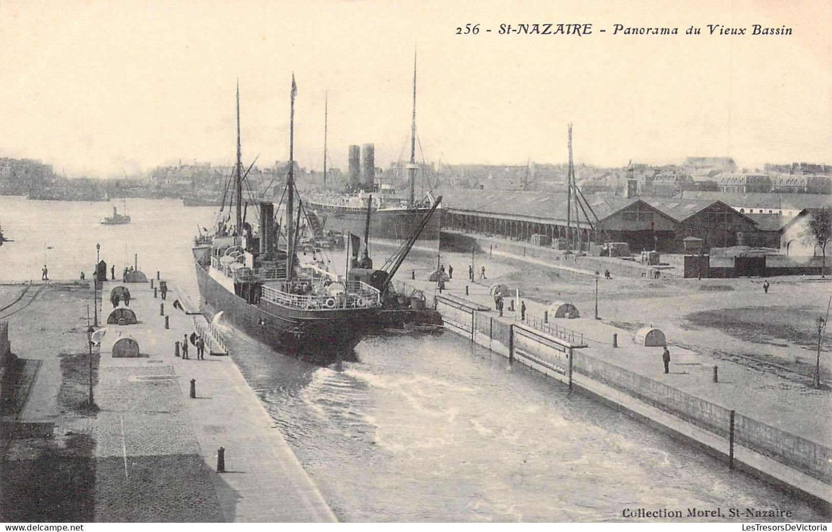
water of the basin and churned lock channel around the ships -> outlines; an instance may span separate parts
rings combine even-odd
[[[116,270],[137,253],[146,272],[196,291],[191,242],[212,208],[133,199],[131,224],[98,224],[110,205],[0,196],[0,223],[16,240],[0,247],[0,280],[39,278],[44,255],[52,278],[89,275],[100,243]],[[451,333],[370,337],[356,349],[359,362],[313,367],[226,332],[235,362],[341,520],[614,521],[625,508],[720,506],[825,519]]]

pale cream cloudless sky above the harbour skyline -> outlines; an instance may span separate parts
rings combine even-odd
[[[70,176],[233,163],[237,79],[244,164],[287,160],[293,72],[300,165],[322,170],[324,95],[330,166],[367,142],[408,160],[414,49],[418,160],[562,163],[572,122],[579,164],[832,163],[828,1],[0,0],[0,21],[0,156]],[[499,34],[523,22],[592,34]]]

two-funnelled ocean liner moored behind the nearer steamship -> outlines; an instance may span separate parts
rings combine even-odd
[[[325,122],[324,122],[325,123]],[[324,126],[325,127],[325,126]],[[416,58],[414,57],[414,106],[413,121],[410,126],[410,161],[405,166],[408,171],[409,194],[397,195],[395,190],[377,187],[375,184],[374,145],[365,144],[362,157],[361,148],[349,146],[349,194],[325,195],[307,203],[312,211],[313,224],[336,233],[364,233],[367,208],[373,224],[369,236],[384,244],[399,244],[407,239],[414,229],[422,223],[436,200],[428,194],[417,199],[414,195],[416,170]],[[324,136],[324,184],[326,183],[326,140]],[[436,209],[428,219],[428,224],[419,234],[418,241],[433,241],[438,246],[442,210]]]

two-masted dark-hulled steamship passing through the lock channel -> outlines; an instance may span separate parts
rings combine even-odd
[[[295,200],[291,140],[296,92],[293,76],[285,235],[280,224],[275,223],[275,206],[270,202],[259,205],[258,234],[253,233],[242,216],[238,87],[235,224],[230,227],[220,222],[214,234],[201,234],[195,240],[196,279],[201,310],[209,318],[221,312],[232,326],[281,352],[328,363],[336,355],[349,355],[373,323],[378,322],[381,290],[369,282],[369,276],[353,275],[348,279],[330,273],[322,264],[298,264],[295,243],[301,205]],[[278,240],[284,236],[285,248],[280,249]]]

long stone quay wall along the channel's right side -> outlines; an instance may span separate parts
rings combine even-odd
[[[689,393],[681,392],[681,390],[631,372],[623,367],[618,367],[582,351],[577,346],[572,348],[572,344],[568,340],[549,334],[543,329],[544,326],[540,324],[535,327],[528,323],[512,323],[506,319],[496,318],[490,315],[491,313],[477,310],[478,305],[476,303],[472,302],[468,306],[461,301],[461,298],[454,299],[452,308],[448,303],[448,298],[444,298],[442,295],[435,297],[436,308],[439,313],[443,314],[448,330],[467,337],[478,345],[488,347],[488,349],[504,357],[522,362],[560,382],[571,383],[573,382],[572,377],[581,376],[590,382],[597,382],[605,387],[623,392],[648,406],[664,411],[687,424],[718,436],[724,442],[721,448],[719,448],[720,446],[712,446],[706,441],[693,442],[697,445],[707,446],[719,455],[726,456],[728,454],[731,416],[729,409]],[[450,323],[458,321],[460,318],[467,321],[467,327],[458,327]],[[518,335],[518,332],[521,332],[521,334]],[[522,335],[527,335],[529,332],[537,335],[540,341],[537,343],[523,343],[523,351],[521,352],[518,350],[518,337],[521,337],[520,340],[522,341]],[[557,352],[558,346],[565,347],[563,353]],[[568,361],[569,358],[572,360],[567,365],[564,361]],[[582,387],[580,382],[574,384]],[[604,401],[627,409],[624,402],[618,401],[612,395],[605,397],[603,393],[599,394],[597,389],[585,389],[592,395],[601,397]],[[756,421],[748,416],[743,416],[739,412],[735,412],[734,417],[735,445],[743,446],[773,461],[780,462],[782,465],[800,471],[827,485],[832,484],[832,449],[830,447],[796,436],[761,421]],[[654,422],[655,420],[647,421]],[[661,424],[661,421],[655,421],[655,423]],[[671,431],[671,433],[679,434],[672,426],[663,426],[663,428]],[[680,436],[687,437],[681,434]],[[756,470],[751,465],[745,465],[745,469],[765,480],[784,484],[789,482],[788,480],[779,479],[775,475],[770,475],[769,471]],[[800,485],[791,485],[791,487],[801,490]],[[815,496],[814,494],[810,495]],[[825,504],[828,505],[829,503],[830,501],[825,501]]]

